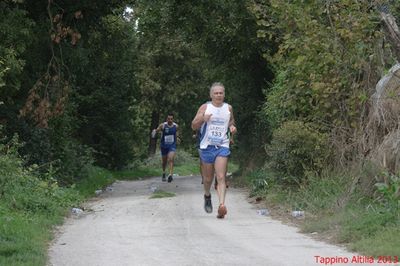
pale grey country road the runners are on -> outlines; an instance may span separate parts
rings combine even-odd
[[[176,196],[150,199],[151,187]],[[309,266],[325,265],[325,257],[349,259],[334,265],[372,265],[350,263],[355,254],[257,214],[238,189],[228,191],[225,219],[217,219],[215,211],[205,213],[199,176],[176,177],[172,183],[119,181],[87,205],[91,211],[72,215],[59,228],[49,265]]]

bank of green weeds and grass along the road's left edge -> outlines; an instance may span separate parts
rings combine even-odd
[[[24,167],[20,146],[16,136],[0,144],[0,265],[44,265],[53,226],[113,178],[93,167],[76,186],[60,187],[52,167]]]

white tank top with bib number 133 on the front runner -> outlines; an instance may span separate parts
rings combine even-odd
[[[215,107],[212,103],[207,103],[205,114],[212,114],[212,116],[208,122],[204,123],[200,149],[206,149],[208,145],[229,148],[228,127],[231,118],[229,105],[223,103],[221,107]]]

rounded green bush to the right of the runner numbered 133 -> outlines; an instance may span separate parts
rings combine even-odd
[[[267,147],[267,166],[284,183],[299,184],[308,172],[320,173],[328,165],[327,135],[300,121],[285,122],[274,131]]]

